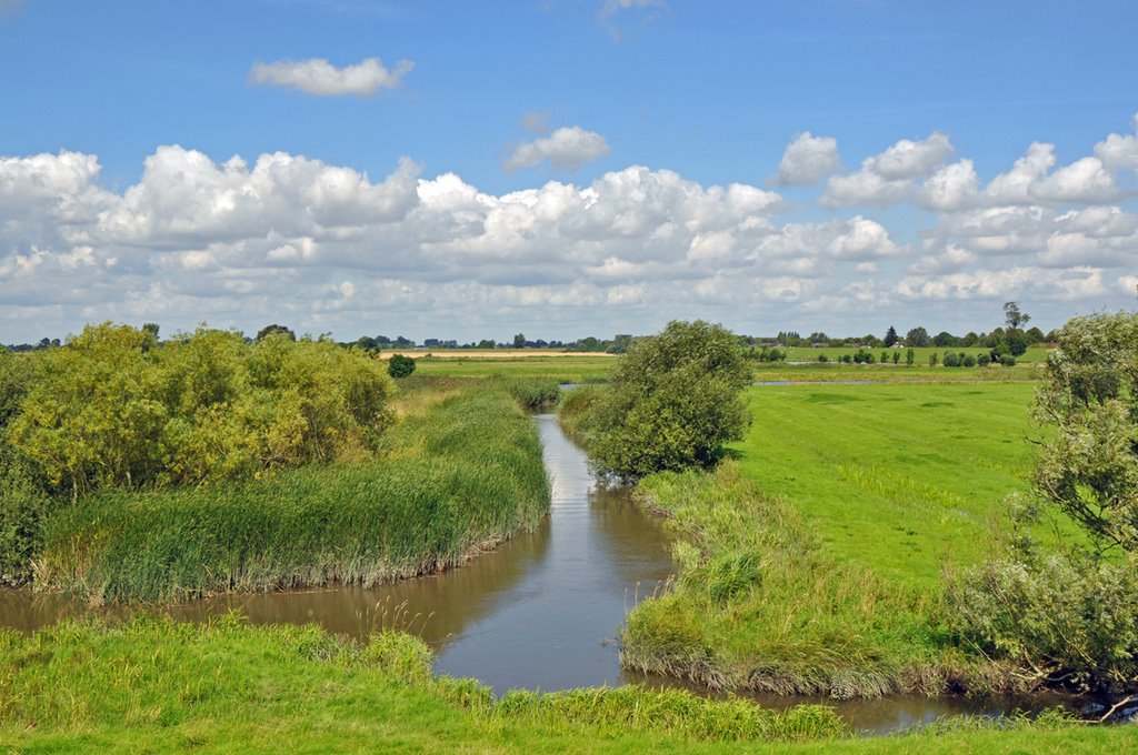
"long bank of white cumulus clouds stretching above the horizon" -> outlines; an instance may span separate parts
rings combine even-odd
[[[588,133],[535,139],[518,167],[577,165]],[[373,177],[302,155],[166,146],[109,191],[93,155],[0,157],[0,339],[106,318],[462,339],[519,324],[543,337],[645,332],[671,317],[864,332],[917,310],[954,330],[983,326],[975,313],[989,307],[998,318],[1007,299],[1057,325],[1132,305],[1129,139],[1111,134],[1063,165],[1037,142],[987,184],[971,159],[946,164],[947,138],[901,141],[830,176],[833,214],[790,218],[799,210],[777,192],[637,165],[490,193],[410,159]],[[801,177],[808,163],[790,167],[787,154],[781,173]],[[842,209],[901,201],[933,213]]]

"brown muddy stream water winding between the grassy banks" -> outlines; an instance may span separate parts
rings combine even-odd
[[[627,682],[683,686],[624,672],[616,642],[628,611],[671,575],[669,536],[658,520],[636,507],[627,489],[597,484],[585,454],[564,435],[553,415],[537,415],[534,421],[553,493],[550,516],[536,531],[518,534],[460,569],[376,589],[341,586],[222,596],[160,611],[181,621],[203,621],[237,609],[255,624],[318,622],[351,637],[402,629],[436,650],[436,671],[473,677],[497,694],[511,688],[558,690]],[[0,590],[0,627],[31,631],[91,611],[61,596]],[[130,611],[98,609],[112,616]],[[948,715],[998,716],[1063,702],[754,699],[776,708],[798,703],[832,705],[866,733],[885,733]]]

